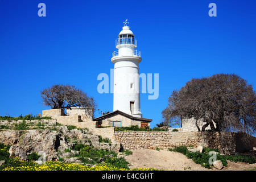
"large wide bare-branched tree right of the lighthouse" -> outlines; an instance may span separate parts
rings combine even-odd
[[[247,81],[234,74],[217,74],[192,78],[180,90],[174,90],[168,107],[162,111],[164,121],[174,117],[203,121],[204,131],[256,131],[256,94]]]

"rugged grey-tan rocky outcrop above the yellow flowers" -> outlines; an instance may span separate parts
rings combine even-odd
[[[11,144],[12,146],[9,150],[10,156],[19,157],[22,160],[27,160],[27,156],[32,152],[46,155],[47,160],[58,160],[58,156],[65,157],[67,155],[65,153],[72,155],[72,152],[64,151],[71,150],[76,143],[88,144],[99,150],[107,149],[115,152],[120,150],[120,143],[101,143],[99,137],[90,133],[89,130],[68,130],[68,127],[64,125],[53,126],[55,130],[0,131],[0,143]]]

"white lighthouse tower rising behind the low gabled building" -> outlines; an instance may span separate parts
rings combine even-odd
[[[115,40],[118,51],[113,52],[111,59],[114,63],[114,106],[113,111],[119,110],[133,117],[142,118],[139,92],[139,63],[141,52],[137,48],[137,39],[127,26],[127,20],[122,31]]]

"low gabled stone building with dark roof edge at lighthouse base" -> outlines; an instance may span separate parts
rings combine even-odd
[[[123,113],[122,111],[115,110],[112,113],[94,118],[93,121],[98,122],[97,124],[100,126],[126,127],[138,125],[139,127],[150,127],[152,119],[138,118],[133,115]]]

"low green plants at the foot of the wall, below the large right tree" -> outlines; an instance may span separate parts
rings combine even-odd
[[[210,169],[212,165],[209,164],[209,159],[212,155],[209,155],[210,151],[220,152],[217,148],[204,147],[203,152],[189,152],[187,146],[179,146],[174,149],[169,148],[169,151],[180,152],[187,156],[187,158],[192,159],[196,164],[201,164],[201,166]],[[249,164],[256,163],[256,158],[250,155],[216,155],[216,160],[221,160],[223,166],[227,166],[226,160],[233,162],[246,162]]]

